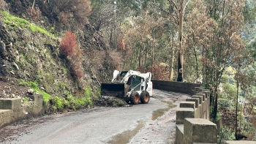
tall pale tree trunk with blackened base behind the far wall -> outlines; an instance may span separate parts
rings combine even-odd
[[[178,27],[178,82],[183,82],[183,58],[184,50],[182,47],[182,34],[183,34],[183,10],[184,10],[184,0],[181,0],[181,10],[179,11],[179,27]]]

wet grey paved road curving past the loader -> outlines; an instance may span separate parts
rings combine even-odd
[[[94,107],[4,127],[0,143],[174,143],[176,105],[187,94],[154,90],[146,105]],[[25,124],[24,124],[25,123]]]

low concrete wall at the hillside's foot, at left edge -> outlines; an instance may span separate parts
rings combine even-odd
[[[34,94],[29,97],[32,101],[27,105],[21,105],[20,98],[0,99],[0,127],[45,113],[42,95]]]

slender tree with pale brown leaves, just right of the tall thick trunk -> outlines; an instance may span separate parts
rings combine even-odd
[[[185,58],[188,59],[190,71],[188,79],[195,81],[203,75],[203,64],[205,69],[213,67],[210,56],[206,59],[206,50],[214,45],[214,30],[217,29],[217,22],[206,13],[203,1],[195,1],[193,10],[187,14],[187,21],[184,26],[186,37],[184,37]],[[191,61],[191,62],[189,62]],[[203,61],[203,64],[202,62]],[[194,64],[195,63],[195,64]],[[204,79],[208,83],[208,79]]]

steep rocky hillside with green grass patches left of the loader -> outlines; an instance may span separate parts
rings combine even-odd
[[[61,37],[7,12],[0,12],[0,19],[0,97],[26,96],[33,88],[45,104],[50,97],[72,94],[89,96],[90,105],[99,95],[99,83],[111,79],[115,67],[110,48],[90,24],[76,34],[83,50],[81,88],[69,61],[59,54]]]

